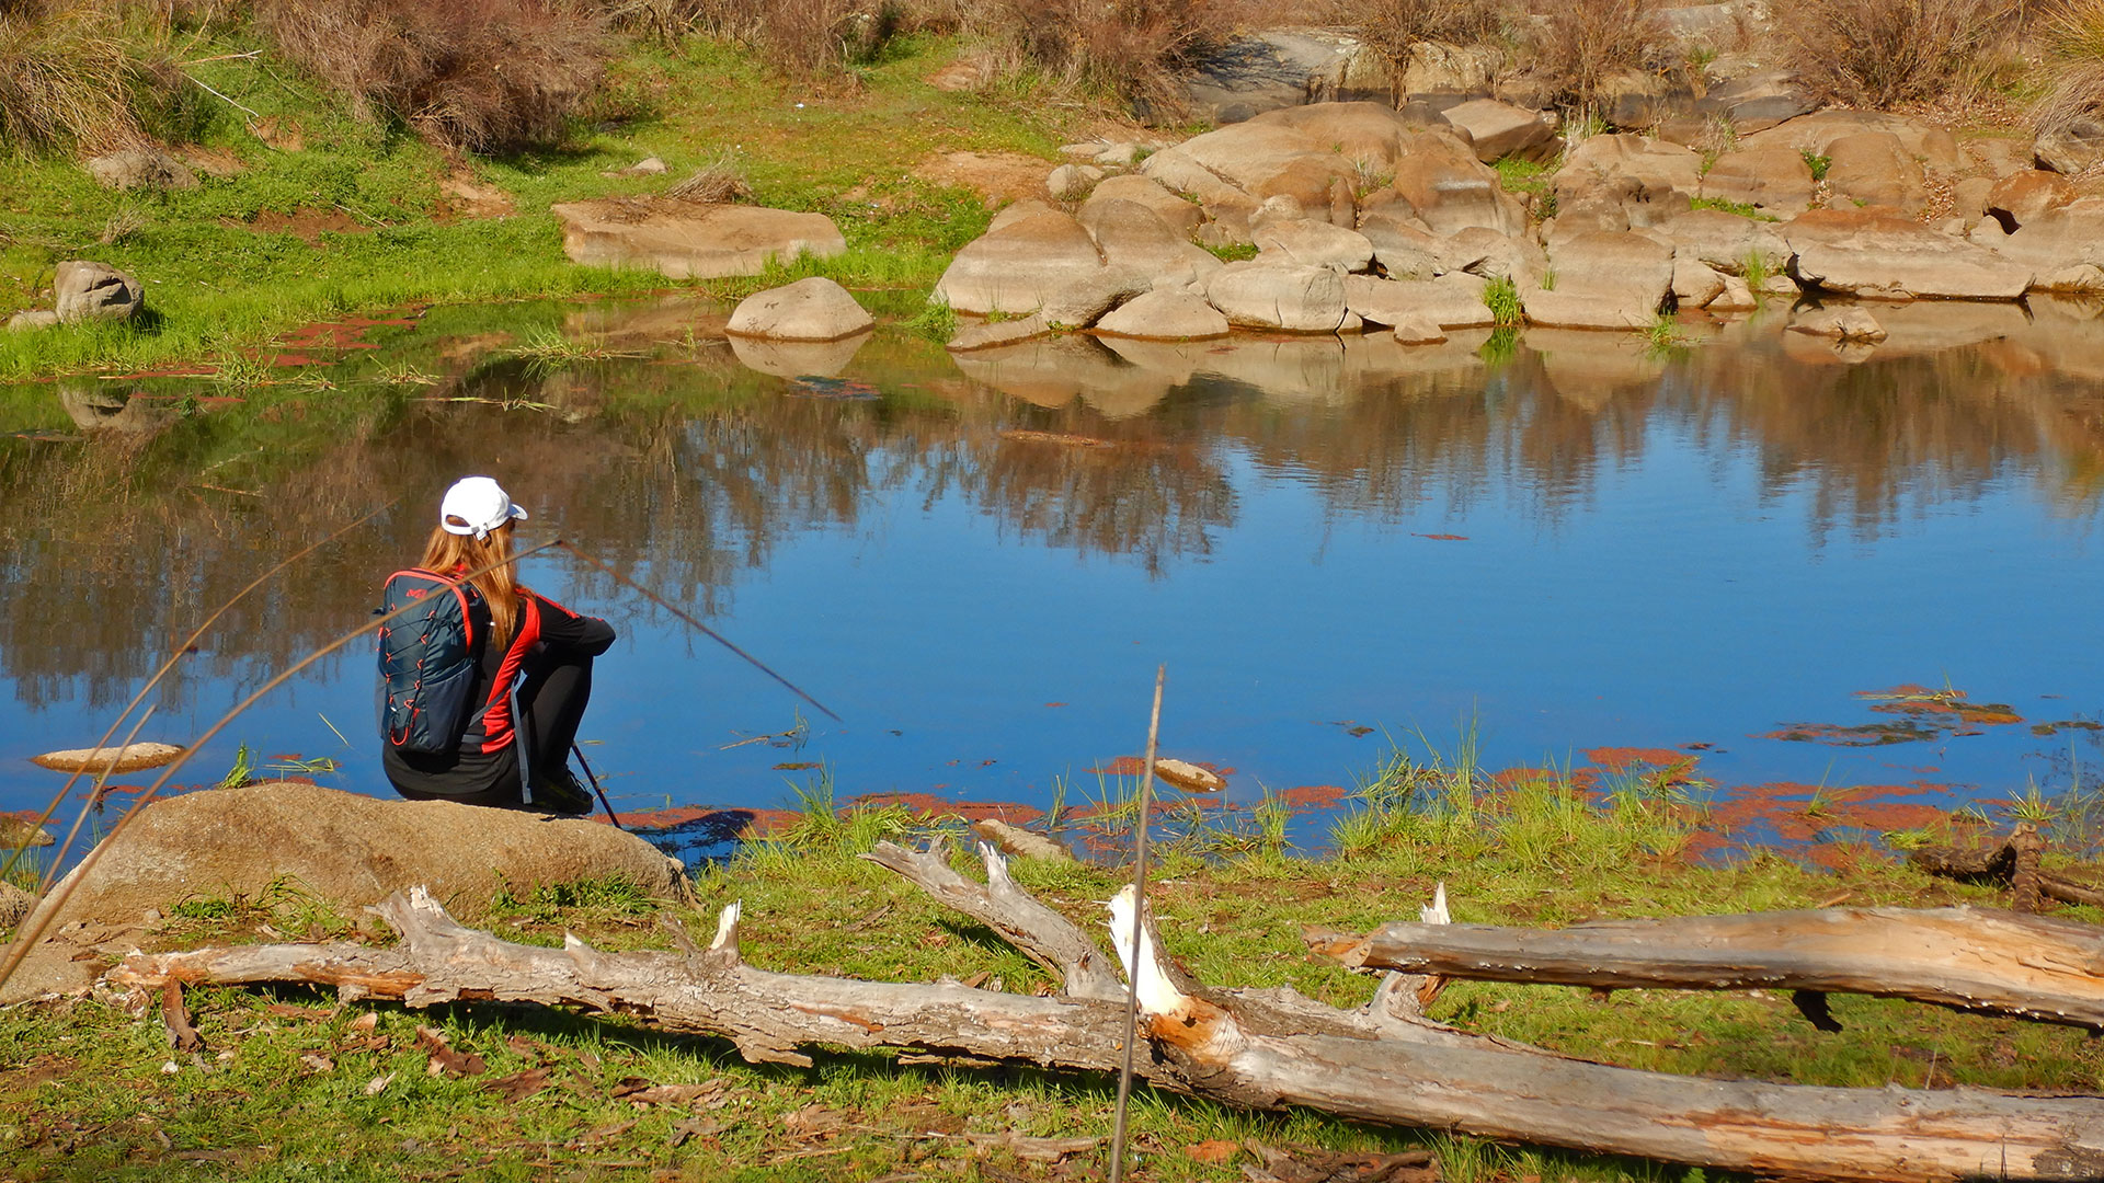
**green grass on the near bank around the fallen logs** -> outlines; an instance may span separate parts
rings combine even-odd
[[[1452,783],[1452,781],[1448,781]],[[1378,785],[1359,808],[1378,810]],[[1393,798],[1389,800],[1393,806]],[[1300,859],[1277,844],[1206,857],[1168,850],[1155,901],[1174,956],[1212,985],[1292,985],[1359,1004],[1372,979],[1311,958],[1300,926],[1368,928],[1412,916],[1437,882],[1460,922],[1561,924],[1584,918],[1854,905],[1999,903],[1986,888],[1923,878],[1879,857],[1814,871],[1782,857],[1692,865],[1685,834],[1658,804],[1572,796],[1538,783],[1391,819],[1353,857]],[[1553,821],[1551,827],[1544,825]],[[528,943],[576,933],[600,947],[665,947],[652,914],[707,930],[743,901],[741,945],[762,968],[861,979],[951,975],[1010,991],[1048,979],[995,935],[936,907],[856,859],[882,834],[955,834],[955,821],[896,806],[810,815],[776,842],[749,844],[699,878],[699,907],[623,884],[503,893],[478,920]],[[1544,838],[1555,840],[1544,840]],[[959,869],[974,874],[970,861]],[[1111,869],[1025,861],[1016,878],[1096,928]],[[2098,920],[2085,909],[2070,916]],[[292,937],[358,939],[360,928],[301,897],[194,899],[158,945]],[[370,937],[370,933],[366,933]],[[170,1052],[158,1017],[107,1002],[0,1012],[0,1149],[13,1179],[128,1179],[181,1168],[200,1179],[1094,1179],[1102,1154],[1065,1164],[997,1145],[1023,1137],[1105,1137],[1109,1080],[1025,1067],[903,1063],[821,1055],[808,1069],[751,1067],[726,1042],[501,1004],[431,1012],[351,1004],[311,989],[200,989],[189,996],[206,1048]],[[2104,1048],[2072,1029],[1837,996],[1843,1031],[1818,1034],[1786,996],[1618,991],[1454,983],[1433,1017],[1469,1031],[1643,1069],[1803,1084],[1948,1088],[2104,1086]],[[431,1069],[431,1027],[484,1071]],[[644,1086],[688,1086],[671,1101]],[[1692,1181],[1662,1164],[1506,1147],[1319,1114],[1243,1114],[1140,1090],[1134,1179],[1241,1179],[1248,1141],[1321,1151],[1431,1149],[1445,1179]]]

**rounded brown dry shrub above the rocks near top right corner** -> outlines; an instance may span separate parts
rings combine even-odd
[[[2018,0],[1791,0],[1774,27],[1803,82],[1860,107],[1942,99],[2014,36]]]

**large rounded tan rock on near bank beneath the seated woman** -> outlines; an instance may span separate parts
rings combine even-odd
[[[25,920],[48,935],[0,1002],[67,977],[78,947],[53,937],[74,924],[137,926],[185,899],[257,899],[295,884],[353,916],[398,890],[427,886],[448,911],[482,914],[490,897],[539,884],[623,876],[682,899],[680,863],[610,825],[454,802],[396,802],[265,783],[151,802],[76,867]],[[69,895],[67,895],[69,893]],[[61,903],[61,897],[63,903]]]

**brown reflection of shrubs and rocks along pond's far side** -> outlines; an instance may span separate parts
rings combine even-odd
[[[537,528],[707,613],[730,610],[739,581],[797,539],[869,537],[888,514],[962,505],[1006,543],[1174,585],[1262,516],[1267,490],[1313,497],[1332,524],[1511,505],[1557,535],[1612,476],[1666,450],[1698,463],[1690,499],[1711,497],[1700,465],[1744,457],[1763,505],[1803,499],[1814,543],[1894,537],[1999,486],[2062,520],[2096,516],[2098,305],[1875,314],[1889,337],[1866,352],[1786,333],[1774,309],[1683,324],[1687,341],[1664,347],[1477,330],[1427,347],[1056,337],[949,358],[890,328],[812,347],[726,341],[722,309],[673,299],[438,309],[324,383],[17,387],[0,394],[0,667],[29,714],[69,697],[109,709],[263,566],[400,499],[234,608],[164,703],[204,682],[252,686],[366,617],[377,573],[414,552],[431,497],[463,472],[497,476]],[[555,324],[602,356],[509,354]],[[1732,530],[1734,514],[1702,528]],[[616,598],[604,577],[572,579]]]

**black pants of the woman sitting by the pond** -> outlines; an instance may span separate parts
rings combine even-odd
[[[389,751],[383,766],[398,794],[408,800],[444,800],[494,808],[534,808],[520,787],[520,751],[534,785],[562,779],[570,745],[591,701],[591,659],[539,655],[526,661],[518,688],[518,739],[488,756],[461,756],[448,768],[419,768],[425,760]],[[465,791],[444,791],[463,785]]]

